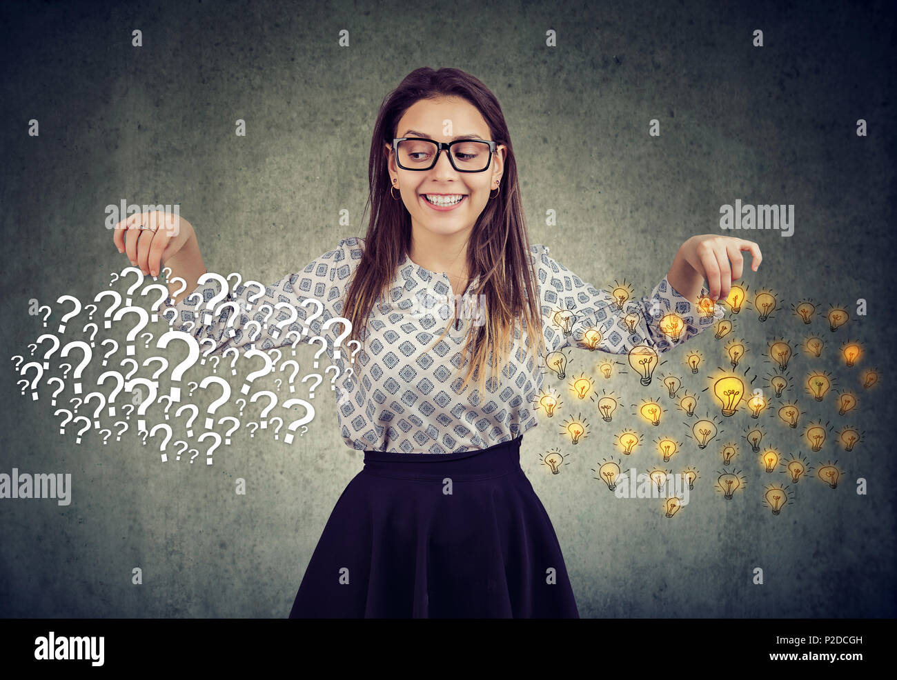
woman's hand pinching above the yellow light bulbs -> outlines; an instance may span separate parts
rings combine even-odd
[[[753,240],[736,239],[734,236],[699,234],[692,236],[679,247],[677,255],[692,269],[707,279],[710,299],[717,301],[728,297],[732,282],[741,278],[745,258],[742,250],[753,255],[752,271],[757,271],[762,261],[760,246]]]

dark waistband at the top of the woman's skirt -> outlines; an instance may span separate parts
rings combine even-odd
[[[393,453],[390,451],[365,451],[364,469],[370,475],[398,479],[441,480],[489,479],[510,473],[522,472],[520,467],[520,442],[516,439],[502,441],[487,449],[475,449],[458,453]]]

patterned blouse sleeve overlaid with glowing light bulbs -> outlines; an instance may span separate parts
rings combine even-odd
[[[648,297],[626,301],[621,307],[609,292],[582,281],[549,257],[546,246],[536,244],[531,249],[550,351],[575,346],[625,354],[637,344],[648,344],[662,353],[725,316],[721,304],[714,305],[712,316],[705,314],[697,301],[692,303],[676,292],[666,276]],[[700,297],[708,292],[702,286]]]

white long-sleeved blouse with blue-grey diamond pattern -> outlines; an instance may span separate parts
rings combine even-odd
[[[345,326],[334,323],[323,332],[321,327],[328,319],[340,316],[344,293],[363,248],[361,238],[340,240],[336,248],[313,260],[298,274],[287,275],[267,286],[261,296],[257,285],[239,285],[236,292],[228,292],[216,303],[216,309],[229,301],[239,304],[240,313],[232,325],[232,306],[224,307],[217,317],[205,310],[206,301],[220,294],[217,284],[196,288],[204,300],[198,314],[195,302],[188,301],[191,296],[178,305],[171,305],[167,299],[162,310],[164,307],[178,310],[179,318],[173,329],[188,332],[197,341],[213,338],[217,343],[215,354],[229,347],[236,347],[242,353],[252,348],[265,351],[292,345],[296,334],[291,335],[290,331],[301,332],[305,319],[312,316],[308,325],[310,332],[304,333],[300,342],[309,343],[314,336],[327,340],[327,354],[340,371],[335,380],[340,429],[346,445],[353,449],[462,452],[512,440],[535,427],[544,369],[534,365],[532,355],[527,355],[527,347],[521,344],[519,321],[513,350],[503,366],[501,384],[494,384],[487,366],[484,400],[475,389],[474,379],[459,393],[464,373],[457,367],[461,365],[466,334],[482,321],[471,311],[475,305],[456,318],[448,275],[424,269],[407,256],[392,280],[392,306],[385,308],[375,303],[368,320],[365,348],[354,353],[354,362],[361,364],[360,379],[354,374],[345,375],[346,369],[353,366],[351,359],[357,344],[341,344],[336,348],[340,350],[336,357],[335,340],[343,335]],[[628,354],[638,344],[647,344],[657,353],[663,353],[696,336],[725,314],[721,304],[714,306],[712,316],[704,314],[697,304],[676,292],[666,276],[649,297],[618,303],[609,292],[583,282],[549,257],[546,246],[537,244],[531,252],[548,353],[580,348]],[[478,281],[479,276],[468,284],[468,291]],[[705,286],[701,296],[707,293]],[[468,299],[475,297],[469,295]],[[323,304],[322,313],[317,314],[316,304],[300,305],[310,299]],[[288,307],[275,308],[279,302],[286,302]],[[269,307],[259,309],[266,303]],[[278,328],[279,321],[290,318],[284,307],[295,308],[298,317],[289,326],[282,324]],[[684,322],[678,338],[672,341],[675,334],[667,326],[670,312],[675,312]],[[248,328],[254,320],[257,323]],[[194,325],[185,328],[190,321]],[[446,327],[446,336],[427,353],[427,347]],[[669,336],[662,327],[670,332]],[[543,362],[545,358],[542,357]],[[324,368],[322,365],[315,371]]]

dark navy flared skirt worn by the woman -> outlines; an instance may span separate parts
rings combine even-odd
[[[365,451],[290,618],[579,618],[521,440],[443,455]]]

